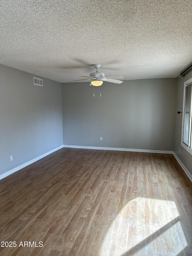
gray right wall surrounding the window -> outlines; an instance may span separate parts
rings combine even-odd
[[[184,82],[192,77],[192,71],[187,73],[185,77],[177,77],[177,96],[176,96],[176,114],[175,114],[175,132],[174,132],[174,152],[182,161],[187,170],[192,174],[192,155],[181,146],[182,137],[182,113],[177,114],[178,111],[183,111],[183,92]],[[180,149],[180,153],[179,153]]]

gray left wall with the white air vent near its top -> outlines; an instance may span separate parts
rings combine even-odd
[[[61,84],[34,76],[0,65],[0,175],[63,144]]]

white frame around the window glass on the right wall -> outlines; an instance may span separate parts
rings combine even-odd
[[[192,84],[192,77],[184,82],[184,93],[183,93],[183,113],[182,113],[182,138],[181,138],[181,145],[184,149],[187,150],[192,155],[192,89],[190,95],[190,121],[189,121],[189,144],[187,145],[184,139],[184,113],[185,113],[185,97],[186,97],[186,87]]]

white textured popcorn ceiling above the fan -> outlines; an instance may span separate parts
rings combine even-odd
[[[59,82],[101,64],[125,80],[192,62],[191,0],[1,0],[0,63]]]

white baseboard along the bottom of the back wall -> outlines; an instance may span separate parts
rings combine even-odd
[[[108,147],[73,146],[73,145],[63,145],[63,147],[64,148],[76,148],[76,149],[101,149],[101,150],[117,150],[117,151],[132,151],[132,152],[173,154],[173,151],[149,150],[149,149],[124,149],[124,148],[108,148]]]

